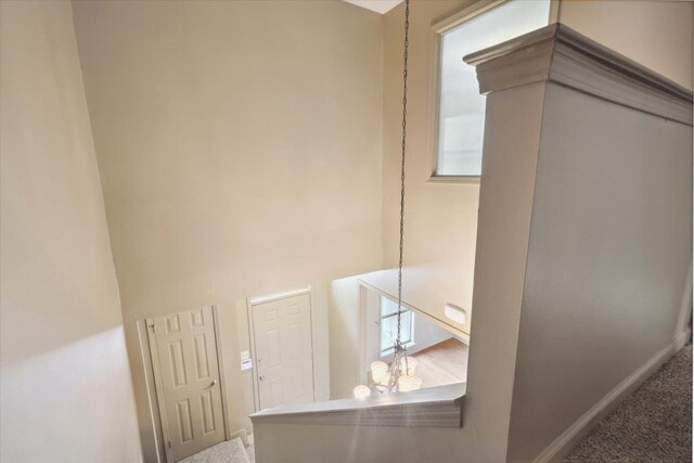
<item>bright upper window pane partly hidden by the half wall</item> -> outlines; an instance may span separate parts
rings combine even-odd
[[[550,0],[507,1],[473,18],[462,14],[435,26],[440,40],[435,176],[481,173],[486,100],[463,56],[547,26]]]

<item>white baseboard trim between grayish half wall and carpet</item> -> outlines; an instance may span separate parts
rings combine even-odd
[[[648,378],[657,369],[680,350],[690,338],[691,330],[687,327],[672,339],[664,349],[659,350],[641,368],[630,374],[617,387],[612,389],[605,397],[600,399],[590,410],[570,425],[560,437],[554,439],[544,449],[534,463],[545,463],[561,461],[571,451],[571,449],[592,429],[603,416],[612,412],[628,395],[633,393],[641,384]]]

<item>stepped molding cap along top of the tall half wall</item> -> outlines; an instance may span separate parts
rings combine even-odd
[[[463,60],[476,66],[483,94],[552,81],[692,125],[692,91],[563,24],[552,24]]]

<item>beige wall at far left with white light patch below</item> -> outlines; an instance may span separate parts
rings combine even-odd
[[[141,461],[70,4],[0,18],[0,460]]]

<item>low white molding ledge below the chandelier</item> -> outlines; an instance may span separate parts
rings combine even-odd
[[[461,427],[465,383],[427,387],[367,399],[342,399],[301,406],[282,406],[250,415],[261,423]]]

